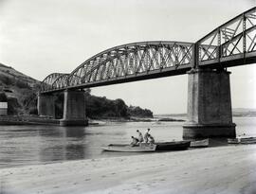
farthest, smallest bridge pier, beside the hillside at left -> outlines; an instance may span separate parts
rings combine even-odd
[[[55,118],[55,96],[52,94],[38,94],[37,111],[38,115],[46,115]]]

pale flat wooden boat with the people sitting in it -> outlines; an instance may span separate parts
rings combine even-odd
[[[107,147],[102,147],[102,150],[120,151],[120,152],[152,152],[155,151],[155,144],[141,143],[137,146],[129,144],[109,144]]]

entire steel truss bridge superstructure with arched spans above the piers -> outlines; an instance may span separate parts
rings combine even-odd
[[[82,62],[70,74],[53,73],[41,93],[186,74],[256,63],[256,7],[218,26],[196,43],[168,41],[123,44]]]

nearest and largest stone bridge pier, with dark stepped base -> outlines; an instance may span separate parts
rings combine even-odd
[[[188,121],[183,138],[235,137],[229,74],[225,70],[189,72]]]

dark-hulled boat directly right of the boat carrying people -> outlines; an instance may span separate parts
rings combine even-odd
[[[191,141],[158,142],[155,145],[155,150],[186,150],[190,147]]]

